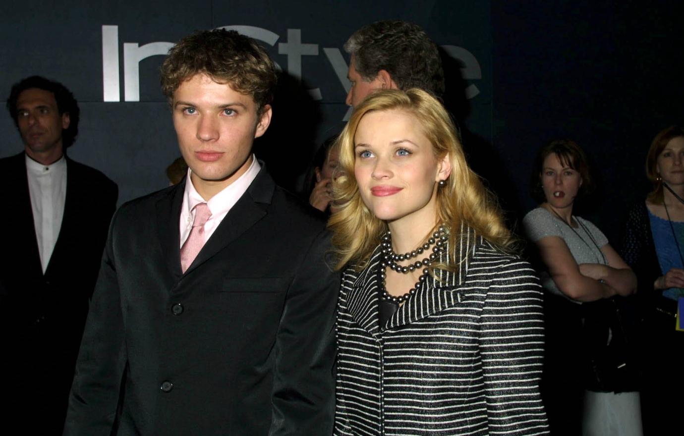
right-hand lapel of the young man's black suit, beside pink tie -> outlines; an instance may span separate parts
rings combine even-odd
[[[257,178],[254,178],[247,191],[237,200],[235,206],[228,211],[226,217],[224,217],[218,228],[216,228],[204,247],[202,247],[195,260],[185,271],[185,274],[192,273],[194,269],[207,262],[207,260],[235,241],[235,239],[266,215],[266,209],[263,204],[270,204],[276,185],[271,176],[266,172],[263,163],[261,163],[261,166],[262,168],[259,174],[257,174]],[[179,264],[180,262],[179,254]]]

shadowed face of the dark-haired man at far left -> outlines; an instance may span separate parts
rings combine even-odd
[[[16,100],[16,111],[16,124],[29,156],[62,154],[62,129],[69,126],[69,115],[60,115],[55,94],[38,88],[25,90]]]

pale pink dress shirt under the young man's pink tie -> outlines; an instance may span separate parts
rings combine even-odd
[[[192,230],[192,222],[195,220],[195,211],[192,210],[197,204],[207,203],[209,210],[211,211],[211,217],[207,223],[205,223],[205,243],[209,240],[214,230],[223,221],[224,217],[228,211],[235,206],[237,200],[247,191],[250,187],[254,178],[257,177],[259,171],[261,170],[261,165],[257,161],[257,157],[252,154],[252,165],[247,169],[247,171],[239,176],[235,182],[231,183],[225,187],[218,194],[214,195],[205,201],[202,198],[194,185],[192,185],[192,179],[190,174],[192,174],[192,169],[187,169],[187,177],[185,178],[185,193],[183,193],[183,205],[181,206],[181,247],[185,243],[185,240],[190,236],[190,230]]]

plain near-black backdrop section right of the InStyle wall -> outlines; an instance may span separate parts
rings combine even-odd
[[[682,12],[661,0],[492,2],[492,140],[521,210],[534,207],[536,149],[575,139],[597,185],[578,212],[617,245],[627,208],[650,188],[650,141],[683,122]]]

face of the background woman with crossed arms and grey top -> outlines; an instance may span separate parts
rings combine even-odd
[[[572,206],[579,187],[582,185],[579,172],[564,165],[555,153],[549,154],[544,159],[540,178],[547,203],[554,208]]]

